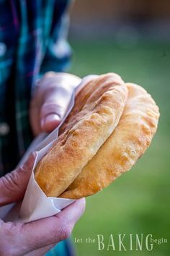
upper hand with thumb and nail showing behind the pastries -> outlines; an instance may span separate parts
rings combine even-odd
[[[58,127],[80,82],[79,77],[68,73],[47,72],[42,77],[30,105],[30,123],[35,135]]]

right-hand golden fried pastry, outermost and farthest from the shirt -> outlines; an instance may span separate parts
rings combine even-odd
[[[128,101],[114,132],[59,197],[81,198],[99,192],[130,170],[150,145],[158,125],[158,106],[139,85],[126,86]]]

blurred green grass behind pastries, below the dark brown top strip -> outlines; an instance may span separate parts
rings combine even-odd
[[[167,43],[138,43],[134,48],[120,48],[112,41],[71,43],[73,67],[71,72],[86,74],[117,72],[127,82],[143,85],[160,107],[158,132],[146,154],[135,167],[97,195],[86,199],[86,213],[73,231],[80,256],[154,255],[168,256],[168,244],[154,245],[153,250],[119,252],[118,249],[99,251],[96,239],[103,234],[153,234],[154,238],[169,239],[169,126],[170,126],[170,45]],[[166,56],[164,56],[164,52]],[[129,242],[125,242],[129,247]]]

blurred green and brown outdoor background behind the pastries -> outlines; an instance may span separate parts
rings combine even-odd
[[[170,1],[75,1],[71,12],[71,72],[117,72],[126,82],[142,85],[160,108],[158,131],[145,155],[97,195],[86,198],[86,212],[76,224],[73,242],[79,256],[169,256],[170,229]],[[90,237],[104,236],[104,249]],[[107,250],[109,235],[115,251]],[[119,251],[117,234],[125,234],[127,251]],[[130,251],[130,234],[143,234],[143,250]],[[147,251],[145,238],[168,239]],[[80,243],[74,239],[82,239]]]

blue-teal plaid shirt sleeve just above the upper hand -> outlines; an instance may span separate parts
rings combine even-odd
[[[68,44],[69,16],[68,8],[57,17],[53,14],[53,22],[48,38],[48,44],[40,67],[39,78],[48,71],[64,72],[68,69],[71,62],[71,47]]]

